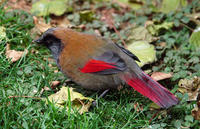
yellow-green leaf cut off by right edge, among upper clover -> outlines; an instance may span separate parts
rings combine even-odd
[[[200,27],[194,30],[189,39],[190,44],[195,48],[200,48]]]

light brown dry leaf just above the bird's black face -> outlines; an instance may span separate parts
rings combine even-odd
[[[37,18],[36,16],[33,16],[33,20],[35,28],[40,31],[40,34],[52,27],[50,24],[45,23],[43,18]]]

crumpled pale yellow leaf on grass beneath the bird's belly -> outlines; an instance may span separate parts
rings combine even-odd
[[[72,109],[78,110],[80,114],[88,112],[93,102],[92,98],[84,97],[82,94],[73,91],[73,88],[64,86],[57,93],[50,95],[48,100],[60,108],[64,108],[64,105],[70,101]],[[69,110],[69,107],[66,107],[66,110]]]

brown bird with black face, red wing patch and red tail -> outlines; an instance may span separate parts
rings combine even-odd
[[[34,42],[46,46],[58,68],[86,90],[117,89],[126,83],[161,108],[178,104],[174,94],[144,73],[137,56],[112,40],[55,27]]]

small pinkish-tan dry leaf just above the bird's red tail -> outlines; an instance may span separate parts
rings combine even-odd
[[[164,80],[167,78],[171,78],[172,74],[171,73],[154,72],[151,75],[151,77],[156,81],[160,81],[160,80]]]

